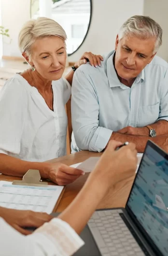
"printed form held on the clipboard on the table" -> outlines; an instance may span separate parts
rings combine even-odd
[[[0,181],[0,206],[18,210],[52,213],[64,186],[12,185]]]

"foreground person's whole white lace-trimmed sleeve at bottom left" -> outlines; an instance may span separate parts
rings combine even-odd
[[[84,242],[64,221],[52,219],[24,236],[0,218],[0,256],[71,256]]]

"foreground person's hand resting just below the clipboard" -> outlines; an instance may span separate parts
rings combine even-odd
[[[24,229],[24,227],[39,228],[45,222],[48,222],[53,218],[47,213],[35,213],[32,211],[7,209],[3,207],[0,207],[0,217],[23,235],[32,233],[31,231]]]

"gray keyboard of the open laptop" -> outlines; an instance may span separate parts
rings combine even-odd
[[[98,211],[88,222],[102,256],[144,256],[119,213],[123,211]]]

